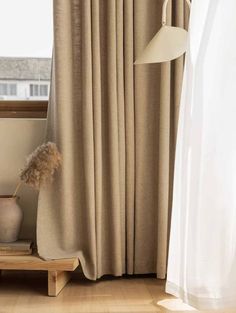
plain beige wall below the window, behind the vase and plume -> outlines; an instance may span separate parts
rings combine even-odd
[[[45,120],[0,119],[0,194],[12,194],[19,169],[25,159],[43,142]],[[35,237],[37,192],[24,186],[19,192],[24,211],[21,238]]]

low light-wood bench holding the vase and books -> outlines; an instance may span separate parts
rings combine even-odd
[[[1,270],[28,270],[48,272],[48,295],[56,297],[70,280],[70,274],[79,265],[76,258],[44,261],[37,255],[0,256]]]

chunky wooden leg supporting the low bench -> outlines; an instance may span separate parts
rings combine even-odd
[[[48,271],[48,295],[56,297],[70,280],[70,277],[70,272]]]

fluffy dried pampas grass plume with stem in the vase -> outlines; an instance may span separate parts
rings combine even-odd
[[[28,158],[25,167],[21,170],[20,180],[14,196],[22,183],[39,190],[46,182],[51,182],[54,172],[61,165],[61,154],[53,142],[38,147]]]

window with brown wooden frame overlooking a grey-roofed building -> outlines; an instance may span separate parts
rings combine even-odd
[[[46,115],[52,11],[53,0],[0,0],[0,117]]]

